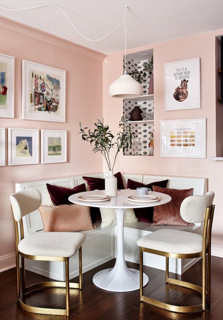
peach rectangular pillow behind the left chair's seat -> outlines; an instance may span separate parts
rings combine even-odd
[[[41,205],[44,231],[74,232],[95,229],[89,207],[80,204]]]

